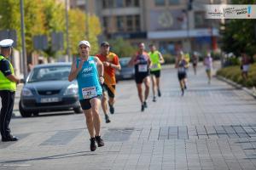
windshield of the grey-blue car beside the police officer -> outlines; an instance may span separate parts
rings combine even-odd
[[[28,82],[43,82],[51,80],[67,80],[71,66],[49,66],[35,68]]]

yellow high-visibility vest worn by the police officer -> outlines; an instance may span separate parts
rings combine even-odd
[[[0,55],[0,61],[3,59],[5,59],[5,58],[2,55]],[[12,74],[15,74],[14,67],[10,62],[9,62],[9,66],[10,66]],[[9,91],[13,91],[13,92],[16,91],[16,82],[9,81],[9,79],[3,75],[2,71],[0,71],[0,90],[9,90]]]

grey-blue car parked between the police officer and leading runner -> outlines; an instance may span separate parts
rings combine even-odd
[[[36,65],[20,93],[20,115],[69,110],[81,113],[77,81],[67,80],[70,69],[71,63]]]

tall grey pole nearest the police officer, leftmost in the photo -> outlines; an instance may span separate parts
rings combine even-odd
[[[22,59],[23,59],[23,75],[24,81],[27,76],[27,61],[26,61],[26,41],[25,41],[25,24],[24,24],[24,4],[23,0],[20,0],[20,22],[21,22],[21,43],[22,43]]]

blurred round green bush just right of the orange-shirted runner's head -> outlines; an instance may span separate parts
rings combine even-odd
[[[117,38],[109,41],[111,51],[118,54],[119,58],[131,57],[136,52],[136,48],[132,47],[130,42],[125,41],[123,38]]]

